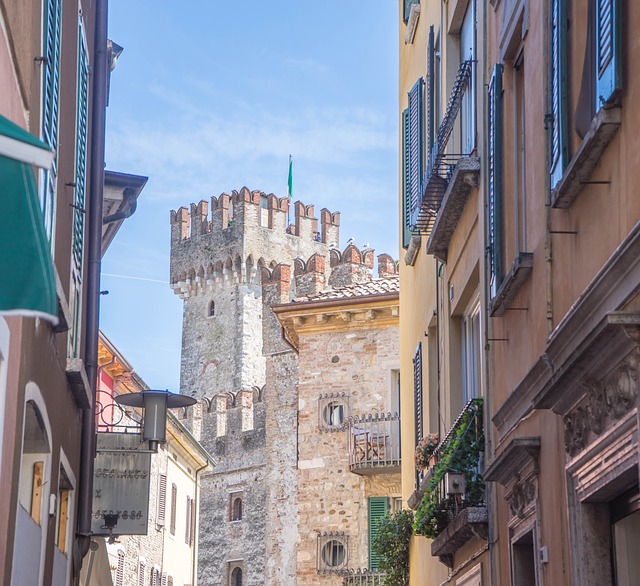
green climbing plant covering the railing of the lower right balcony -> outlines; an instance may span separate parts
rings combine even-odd
[[[435,539],[461,507],[484,502],[484,480],[480,460],[484,452],[482,399],[473,399],[458,420],[455,430],[440,448],[438,462],[431,470],[424,496],[416,511],[414,530],[419,535]],[[447,472],[463,474],[463,499],[443,495],[440,488]]]

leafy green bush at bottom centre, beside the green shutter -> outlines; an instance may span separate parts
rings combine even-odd
[[[380,556],[379,569],[385,573],[384,586],[409,584],[409,540],[413,534],[410,510],[386,513],[378,524],[372,549]]]

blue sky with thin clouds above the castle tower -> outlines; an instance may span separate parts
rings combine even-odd
[[[111,0],[107,168],[149,177],[102,264],[101,327],[154,388],[179,390],[182,302],[169,211],[246,185],[341,212],[398,258],[398,0]]]

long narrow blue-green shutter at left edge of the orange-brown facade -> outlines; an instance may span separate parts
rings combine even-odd
[[[489,83],[488,213],[489,213],[489,286],[491,298],[502,282],[502,72],[493,68]]]

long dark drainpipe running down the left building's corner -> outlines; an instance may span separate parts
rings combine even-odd
[[[87,248],[87,296],[85,366],[91,385],[91,405],[82,412],[80,474],[78,481],[78,522],[74,549],[74,574],[91,543],[91,508],[95,458],[95,394],[98,373],[98,321],[100,316],[100,263],[102,257],[102,202],[104,192],[104,151],[107,107],[107,14],[108,0],[96,0],[91,107],[91,176]]]

